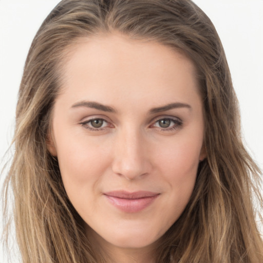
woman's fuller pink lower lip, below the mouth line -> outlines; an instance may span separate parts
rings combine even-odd
[[[119,198],[119,197],[108,196],[108,195],[105,196],[107,197],[107,199],[111,204],[113,204],[116,208],[120,209],[121,211],[126,213],[136,213],[147,208],[147,206],[152,204],[159,195],[148,196],[148,197],[137,198],[137,199],[125,199],[125,198]]]

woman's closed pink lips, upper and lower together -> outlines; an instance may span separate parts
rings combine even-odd
[[[126,213],[136,213],[145,209],[152,204],[159,196],[159,193],[148,191],[126,192],[126,191],[112,191],[104,193],[105,197],[116,208]]]

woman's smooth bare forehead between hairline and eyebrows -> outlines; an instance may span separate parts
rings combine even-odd
[[[182,98],[198,92],[195,66],[182,52],[120,34],[79,39],[67,50],[62,72],[62,93],[76,100],[83,96],[107,102],[126,96],[165,104],[176,87]]]

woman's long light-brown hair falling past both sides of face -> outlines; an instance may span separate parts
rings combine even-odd
[[[6,180],[23,262],[105,262],[91,250],[46,137],[68,48],[79,37],[114,31],[181,50],[198,71],[207,158],[189,204],[161,238],[156,262],[262,262],[255,222],[255,205],[259,211],[263,203],[260,171],[241,140],[238,103],[217,32],[190,0],[63,0],[43,22],[25,64]]]

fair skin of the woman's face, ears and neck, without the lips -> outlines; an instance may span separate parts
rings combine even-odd
[[[194,65],[170,47],[115,33],[74,44],[63,73],[48,149],[68,197],[109,262],[154,262],[156,243],[189,202],[205,158]],[[105,197],[117,190],[158,197],[129,213]]]

